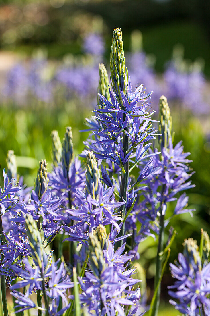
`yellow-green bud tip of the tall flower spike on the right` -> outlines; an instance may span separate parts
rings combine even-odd
[[[170,108],[168,106],[167,99],[164,95],[160,97],[159,100],[159,113],[158,113],[158,140],[161,149],[163,147],[167,148],[169,145],[169,139],[172,138],[172,117]]]

